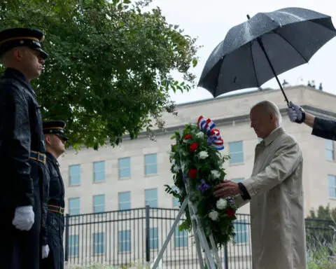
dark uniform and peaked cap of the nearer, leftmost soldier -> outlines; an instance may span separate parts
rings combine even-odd
[[[15,28],[0,32],[0,54],[10,48],[41,49],[43,32]],[[0,267],[37,269],[41,251],[41,201],[45,179],[45,145],[41,112],[29,81],[7,68],[0,78]],[[15,208],[33,206],[34,225],[28,231],[13,226]]]

